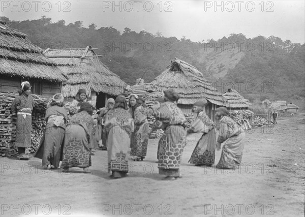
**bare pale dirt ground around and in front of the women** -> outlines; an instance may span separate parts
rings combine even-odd
[[[246,134],[238,170],[188,163],[199,134],[188,137],[182,178],[164,181],[157,139],[147,157],[129,161],[128,177],[110,179],[107,152],[97,150],[91,174],[42,170],[41,160],[1,158],[2,216],[304,216],[304,114]],[[216,152],[216,164],[220,158]]]

